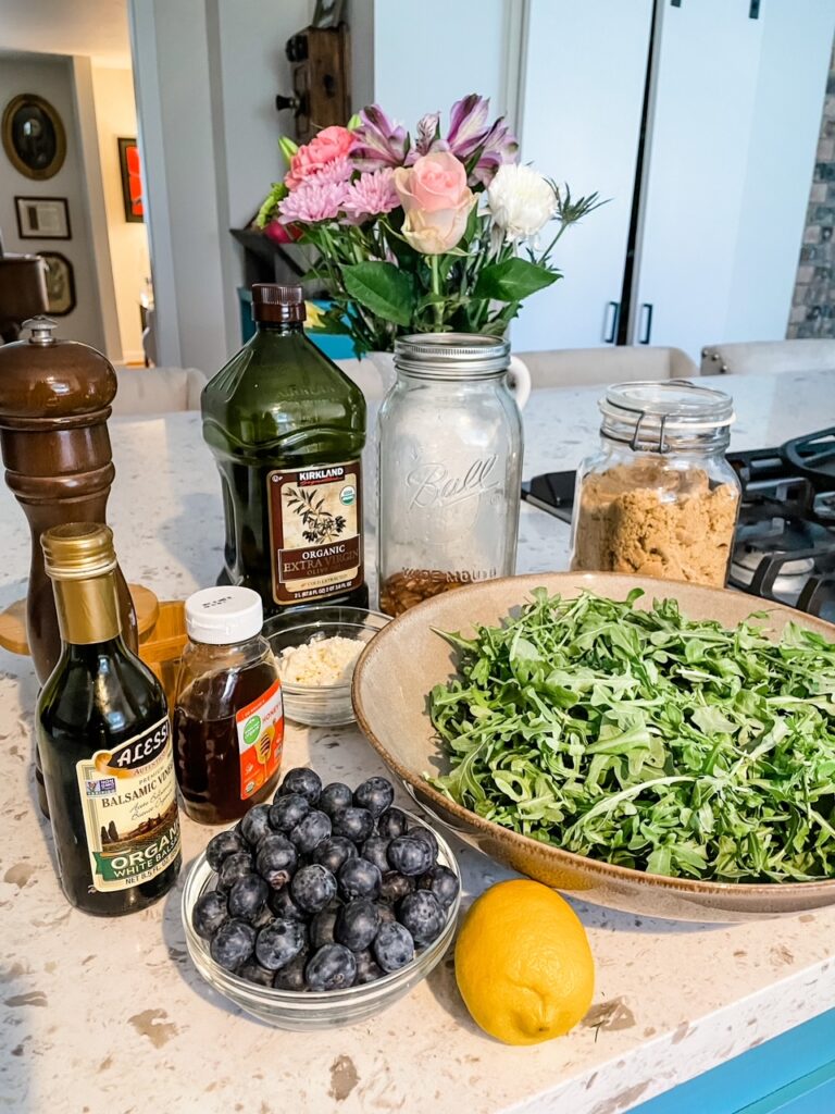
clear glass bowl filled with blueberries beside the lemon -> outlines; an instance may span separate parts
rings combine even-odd
[[[394,805],[289,770],[272,804],[214,836],[183,890],[186,945],[216,990],[287,1029],[353,1025],[442,959],[461,874],[443,837]]]

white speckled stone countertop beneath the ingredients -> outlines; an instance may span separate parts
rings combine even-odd
[[[734,443],[767,447],[835,412],[835,374],[710,380],[730,390]],[[525,412],[525,475],[574,467],[597,437],[595,389],[541,391]],[[114,421],[110,501],[122,567],[160,598],[214,583],[220,500],[196,414]],[[0,606],[24,590],[22,514],[0,492]],[[522,508],[519,571],[564,568],[567,527]],[[508,1048],[458,997],[451,958],[411,996],[348,1029],[294,1034],[232,1008],[191,967],[179,888],[143,913],[70,909],[35,803],[36,681],[0,651],[0,1108],[51,1114],[432,1111],[619,1114],[767,1040],[835,1000],[835,910],[707,926],[574,902],[597,961],[595,1004],[568,1037]],[[285,766],[355,782],[383,772],[354,727],[288,726]],[[208,832],[184,821],[188,863]],[[453,840],[468,901],[508,877]]]

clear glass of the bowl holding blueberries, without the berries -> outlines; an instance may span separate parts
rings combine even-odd
[[[403,810],[405,811],[405,810]],[[422,817],[406,815],[416,824],[430,828]],[[234,1001],[247,1014],[279,1029],[330,1029],[338,1025],[354,1025],[387,1009],[422,981],[438,966],[450,946],[461,907],[461,871],[446,840],[436,829],[430,828],[438,840],[438,861],[455,874],[459,891],[446,910],[443,931],[432,944],[419,951],[411,964],[392,975],[384,975],[375,983],[351,986],[346,990],[277,990],[258,986],[233,975],[216,964],[209,945],[191,927],[191,910],[207,890],[213,888],[215,872],[200,853],[188,872],[183,888],[183,928],[186,947],[194,965],[209,986]]]

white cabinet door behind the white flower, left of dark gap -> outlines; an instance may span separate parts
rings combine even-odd
[[[651,0],[530,0],[522,160],[572,193],[610,198],[569,228],[564,278],[522,306],[517,351],[591,348],[611,334],[635,186]]]

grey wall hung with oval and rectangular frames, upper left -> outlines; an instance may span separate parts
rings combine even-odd
[[[90,250],[91,233],[81,164],[70,61],[50,56],[0,56],[0,107],[20,92],[46,97],[61,116],[67,131],[67,157],[51,178],[35,182],[20,174],[0,154],[0,228],[8,252],[60,252],[72,264],[77,307],[58,317],[58,336],[84,341],[104,350],[105,333],[99,312],[98,286]],[[21,240],[14,197],[66,197],[71,240]]]

